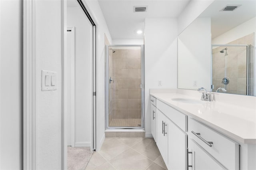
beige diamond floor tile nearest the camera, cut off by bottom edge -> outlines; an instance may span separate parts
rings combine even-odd
[[[109,161],[118,170],[144,170],[152,161],[132,148]]]

